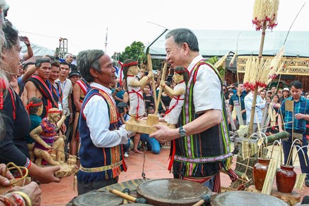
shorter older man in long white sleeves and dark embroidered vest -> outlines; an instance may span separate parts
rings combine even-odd
[[[129,132],[120,117],[109,84],[115,81],[113,61],[102,50],[82,51],[77,56],[82,77],[90,82],[80,111],[80,171],[78,194],[116,184],[127,167],[122,145]]]

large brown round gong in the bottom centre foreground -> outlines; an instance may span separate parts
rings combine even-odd
[[[183,179],[153,179],[137,187],[137,197],[151,205],[194,205],[203,195],[211,195],[206,186]]]

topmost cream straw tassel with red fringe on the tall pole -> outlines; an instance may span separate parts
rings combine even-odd
[[[260,30],[264,22],[270,30],[276,27],[278,8],[279,0],[256,0],[252,20],[253,25],[256,25],[256,30]]]

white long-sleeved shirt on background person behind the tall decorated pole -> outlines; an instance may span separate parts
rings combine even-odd
[[[250,92],[244,98],[244,103],[245,103],[245,108],[246,108],[246,115],[247,115],[247,120],[246,120],[247,124],[250,122],[250,118],[251,118],[252,102],[253,102],[253,94],[252,94],[252,92]],[[263,101],[263,99],[259,95],[256,96],[256,113],[258,114],[258,122],[256,120],[256,115],[254,115],[253,123],[260,123],[260,122],[262,122],[262,117],[263,117],[262,110],[264,108],[265,108],[265,102]]]

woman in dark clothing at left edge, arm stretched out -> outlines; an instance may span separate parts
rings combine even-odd
[[[29,174],[42,183],[59,182],[61,179],[56,178],[53,173],[60,167],[37,167],[29,159],[25,141],[30,128],[29,116],[20,97],[8,85],[7,80],[18,74],[21,48],[18,32],[13,29],[11,22],[6,22],[3,26],[0,23],[0,46],[0,112],[6,130],[0,141],[0,162],[13,162],[27,167]]]

